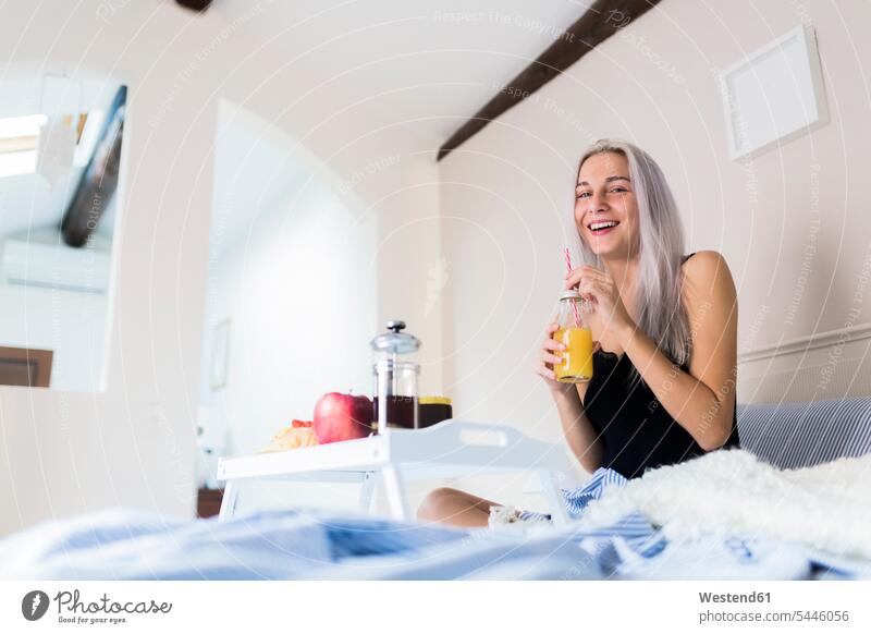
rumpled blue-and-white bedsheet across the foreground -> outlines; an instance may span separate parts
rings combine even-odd
[[[573,516],[618,474],[564,491]],[[578,526],[461,529],[315,509],[260,511],[226,523],[108,510],[0,540],[0,578],[812,578],[862,568],[766,538],[671,544],[640,513]]]

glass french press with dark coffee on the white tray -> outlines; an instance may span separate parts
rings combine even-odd
[[[420,340],[402,332],[405,321],[391,319],[387,328],[387,332],[371,341],[376,357],[372,365],[375,434],[383,434],[391,427],[418,428],[417,376],[420,366],[413,361],[400,361],[400,355],[417,352]]]

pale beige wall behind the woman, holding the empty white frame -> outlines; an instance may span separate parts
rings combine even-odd
[[[715,69],[803,20],[817,27],[832,122],[750,162],[729,160]],[[650,151],[677,197],[688,249],[725,255],[741,351],[868,324],[862,293],[851,309],[871,254],[861,81],[871,42],[859,37],[870,20],[855,0],[670,0],[441,162],[442,241],[450,268],[463,271],[446,286],[445,391],[461,411],[561,437],[531,364],[561,290],[562,247],[575,240],[576,161],[599,137]],[[739,401],[751,390],[743,386]]]

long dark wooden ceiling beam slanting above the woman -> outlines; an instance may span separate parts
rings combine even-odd
[[[438,160],[442,160],[493,119],[532,95],[659,2],[660,0],[596,0],[548,50],[508,82],[439,148]]]

